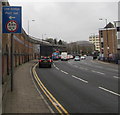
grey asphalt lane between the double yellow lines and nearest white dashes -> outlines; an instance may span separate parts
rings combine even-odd
[[[56,62],[56,67],[61,62]],[[65,62],[66,63],[66,62]],[[65,68],[68,64],[61,63]],[[60,67],[62,66],[60,65]],[[53,67],[37,68],[37,74],[43,84],[70,113],[113,113],[118,111],[118,97],[107,93],[94,85],[86,84],[74,77],[74,73],[65,74],[65,69]],[[69,67],[69,66],[68,66]],[[67,68],[68,69],[68,68]],[[73,68],[72,68],[73,69]],[[63,70],[64,72],[61,72]],[[76,69],[75,69],[76,70]]]

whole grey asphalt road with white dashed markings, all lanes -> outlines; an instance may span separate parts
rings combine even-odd
[[[118,67],[87,57],[80,62],[55,61],[36,68],[51,94],[69,113],[117,113]]]

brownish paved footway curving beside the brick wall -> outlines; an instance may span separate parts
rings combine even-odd
[[[4,113],[52,113],[33,82],[30,69],[34,63],[35,61],[30,61],[15,69],[13,92],[7,94]]]

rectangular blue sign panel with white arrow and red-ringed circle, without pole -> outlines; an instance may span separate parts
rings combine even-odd
[[[2,32],[21,33],[22,17],[20,6],[2,7]]]

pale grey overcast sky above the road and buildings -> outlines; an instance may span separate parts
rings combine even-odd
[[[103,2],[42,2],[9,0],[10,5],[22,6],[22,25],[36,38],[53,37],[66,42],[88,40],[108,22],[118,20],[117,1]],[[103,18],[100,21],[99,18]],[[35,21],[32,21],[35,20]]]

